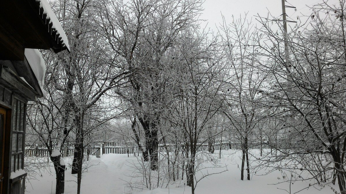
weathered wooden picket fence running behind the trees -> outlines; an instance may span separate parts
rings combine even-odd
[[[197,151],[208,151],[208,143],[200,141],[198,142],[200,145]],[[242,145],[236,143],[229,143],[228,141],[222,141],[221,143],[215,142],[213,145],[214,150],[227,150],[227,149],[242,149]],[[271,147],[281,147],[281,148],[289,148],[293,146],[290,143],[281,143],[280,146],[277,144],[268,143],[249,143],[249,149],[270,149]],[[170,151],[174,151],[176,145],[175,144],[159,144],[158,150],[160,152],[164,152],[166,148]],[[138,146],[135,142],[99,142],[93,143],[92,147],[85,148],[84,153],[89,153],[89,155],[93,155],[96,157],[101,157],[102,154],[136,154],[139,152]],[[63,153],[64,156],[73,156],[74,147],[67,146],[66,152]],[[25,157],[48,157],[49,153],[47,149],[44,148],[33,148],[33,147],[25,147]]]

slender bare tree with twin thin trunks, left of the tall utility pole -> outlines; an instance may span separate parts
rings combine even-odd
[[[244,180],[246,162],[247,180],[250,180],[249,143],[256,142],[256,126],[262,118],[262,95],[258,93],[266,84],[266,73],[259,68],[257,30],[252,21],[234,20],[220,30],[227,43],[228,63],[234,79],[228,83],[227,103],[223,110],[230,120],[234,137],[242,145],[241,180]],[[260,74],[261,72],[261,74]]]

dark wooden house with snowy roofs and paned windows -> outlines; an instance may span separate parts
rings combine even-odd
[[[45,93],[37,49],[69,51],[69,45],[47,0],[3,0],[0,10],[0,194],[19,194],[25,192],[26,104]]]

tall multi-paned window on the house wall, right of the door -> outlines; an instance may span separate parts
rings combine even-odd
[[[12,104],[12,146],[11,146],[11,172],[23,168],[23,145],[25,127],[26,104],[13,98]]]

